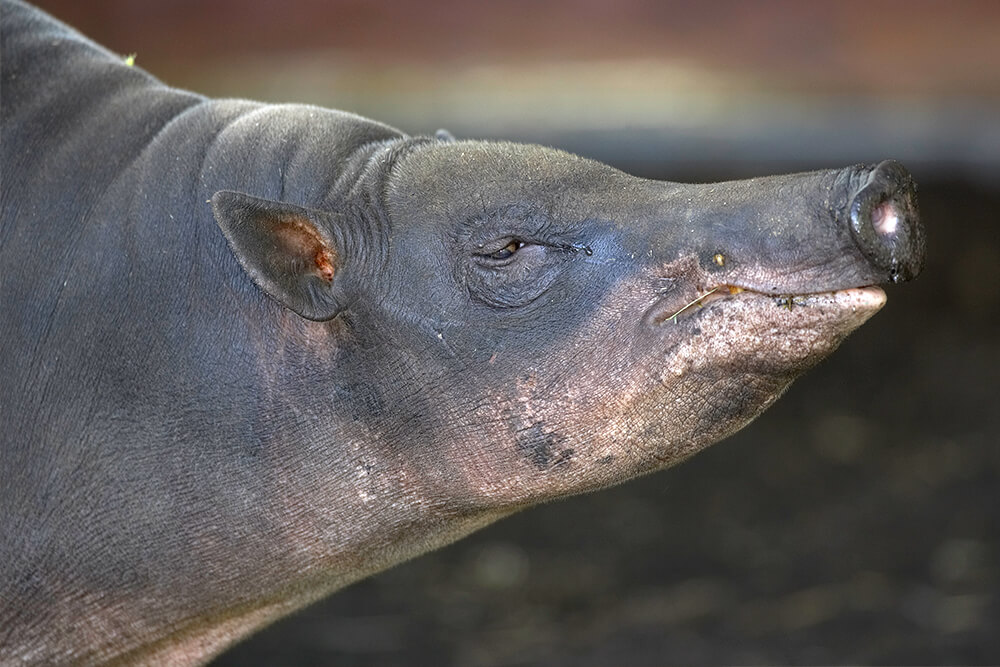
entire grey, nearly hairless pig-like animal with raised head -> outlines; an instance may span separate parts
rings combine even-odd
[[[200,663],[671,466],[922,263],[895,162],[651,181],[206,99],[0,18],[5,664]]]

